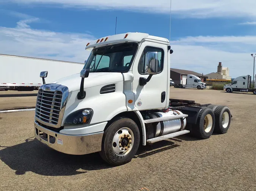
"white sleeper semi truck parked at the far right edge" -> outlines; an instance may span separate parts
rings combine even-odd
[[[256,75],[254,77],[254,82],[256,80]],[[235,78],[232,83],[224,85],[223,89],[226,92],[253,92],[256,94],[256,84],[254,83],[254,87],[251,88],[251,76],[250,75],[241,75]]]

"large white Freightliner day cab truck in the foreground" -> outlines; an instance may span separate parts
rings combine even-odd
[[[190,133],[207,139],[224,134],[228,106],[200,105],[170,97],[170,42],[129,32],[97,39],[80,74],[45,84],[40,77],[35,137],[66,154],[99,152],[111,165],[123,165],[139,145]]]

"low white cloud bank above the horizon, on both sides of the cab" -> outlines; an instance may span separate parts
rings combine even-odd
[[[14,28],[0,27],[0,53],[84,62],[85,46],[95,38],[89,34],[61,33],[31,28],[38,19],[17,22]],[[253,74],[256,36],[185,37],[171,42],[171,67],[208,74],[217,71],[218,62],[229,67],[232,77]]]

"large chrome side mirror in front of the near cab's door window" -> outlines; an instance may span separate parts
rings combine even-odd
[[[145,74],[157,74],[158,65],[158,52],[147,52],[144,65]]]

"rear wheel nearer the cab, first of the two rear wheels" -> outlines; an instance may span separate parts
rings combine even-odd
[[[206,120],[205,120],[206,119]],[[204,123],[206,122],[206,128]],[[215,126],[214,111],[209,107],[202,107],[199,112],[196,125],[192,127],[192,134],[199,139],[208,139],[212,135]]]

